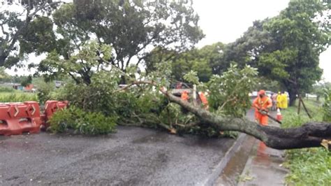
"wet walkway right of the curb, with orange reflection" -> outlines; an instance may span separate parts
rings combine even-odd
[[[249,110],[247,117],[254,119],[253,110]],[[214,185],[284,185],[287,170],[281,167],[283,155],[283,150],[268,148],[247,136]]]

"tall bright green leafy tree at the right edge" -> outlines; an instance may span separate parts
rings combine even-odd
[[[270,74],[286,87],[290,105],[296,94],[307,92],[321,79],[319,55],[330,44],[329,6],[321,1],[290,1],[288,8],[265,24],[277,42],[258,64],[263,75]]]

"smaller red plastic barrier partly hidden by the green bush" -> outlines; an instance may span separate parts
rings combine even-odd
[[[55,101],[49,100],[45,102],[45,113],[41,115],[42,129],[47,129],[50,127],[50,124],[47,122],[50,120],[52,115],[59,109],[64,109],[68,106],[68,101]]]

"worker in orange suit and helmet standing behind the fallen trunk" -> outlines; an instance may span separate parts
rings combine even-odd
[[[272,107],[271,99],[265,95],[265,90],[258,92],[258,97],[253,101],[255,117],[259,124],[267,126],[267,112]]]

